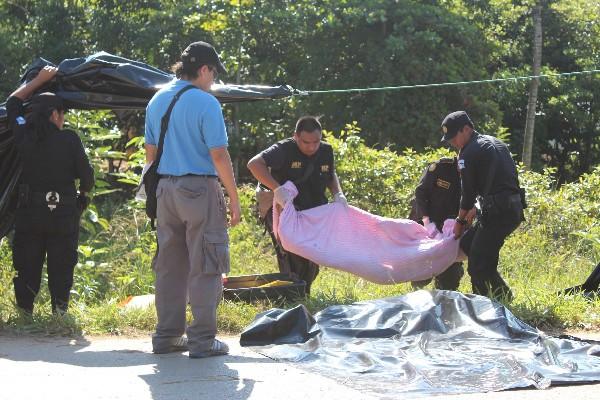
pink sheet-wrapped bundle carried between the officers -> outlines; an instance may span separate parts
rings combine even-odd
[[[292,182],[284,187],[298,194]],[[339,203],[296,211],[290,201],[281,214],[273,204],[273,229],[287,251],[380,284],[424,280],[445,271],[459,257],[453,228],[454,220],[447,220],[443,233],[429,237],[414,221]]]

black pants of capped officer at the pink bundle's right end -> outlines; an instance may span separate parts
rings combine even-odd
[[[511,301],[513,294],[498,272],[498,261],[504,241],[523,221],[523,208],[518,198],[497,207],[467,232],[461,248],[469,256],[473,293]]]

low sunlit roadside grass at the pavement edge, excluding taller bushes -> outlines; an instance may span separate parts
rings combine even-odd
[[[232,235],[234,236],[234,235]],[[581,283],[591,268],[589,262],[573,254],[557,254],[548,257],[542,251],[523,248],[523,232],[517,232],[506,243],[501,254],[501,271],[516,295],[510,305],[513,313],[541,329],[584,329],[600,330],[600,300],[589,301],[579,295],[557,295],[557,291]],[[262,245],[263,241],[260,240]],[[252,249],[240,246],[244,251],[244,263],[234,262],[232,275],[266,273],[276,270],[273,254],[262,256],[264,248]],[[233,259],[242,250],[233,245]],[[529,251],[532,250],[532,251]],[[2,246],[6,252],[6,246]],[[512,254],[528,254],[528,264],[522,257]],[[254,262],[248,263],[248,260]],[[2,269],[6,272],[6,268]],[[6,282],[6,280],[4,281]],[[6,285],[4,287],[6,289]],[[470,292],[468,278],[463,278],[460,290]],[[397,296],[411,291],[410,284],[376,285],[345,272],[322,268],[314,286],[312,296],[303,303],[311,312],[329,305],[350,304],[361,300]],[[66,316],[50,313],[46,289],[40,294],[33,318],[19,315],[7,297],[12,293],[5,290],[1,308],[0,329],[13,332],[40,333],[45,335],[146,335],[156,323],[152,307],[147,309],[124,309],[119,307],[118,297],[108,297],[94,304],[76,300]],[[295,304],[258,302],[247,304],[223,301],[219,306],[218,326],[221,333],[237,334],[248,326],[259,312],[273,307],[291,307]]]

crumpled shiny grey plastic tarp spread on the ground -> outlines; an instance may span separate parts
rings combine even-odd
[[[253,349],[364,392],[418,396],[600,381],[600,343],[547,336],[483,296],[420,290],[331,306],[295,333],[274,311],[257,316],[240,343],[263,344]],[[265,326],[279,321],[288,326]],[[287,343],[310,339],[267,345],[280,338],[265,332],[281,332]]]

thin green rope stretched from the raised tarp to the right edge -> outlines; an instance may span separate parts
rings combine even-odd
[[[474,85],[479,83],[496,83],[496,82],[516,82],[521,80],[529,80],[535,78],[563,78],[568,76],[579,76],[579,75],[593,75],[600,73],[600,69],[591,69],[586,71],[576,72],[561,72],[556,74],[540,74],[540,75],[527,75],[527,76],[513,76],[510,78],[495,78],[495,79],[483,79],[479,81],[461,81],[461,82],[444,82],[444,83],[428,83],[421,85],[402,85],[402,86],[384,86],[376,88],[356,88],[356,89],[330,89],[330,90],[296,90],[294,94],[297,95],[309,95],[309,94],[325,94],[325,93],[362,93],[362,92],[383,92],[387,90],[404,90],[404,89],[415,89],[415,88],[429,88],[429,87],[446,87],[446,86],[464,86]]]

